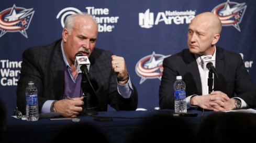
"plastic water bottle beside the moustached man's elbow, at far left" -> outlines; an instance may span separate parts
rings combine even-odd
[[[37,87],[34,82],[28,82],[28,86],[25,90],[26,94],[26,116],[27,121],[37,121],[39,119],[38,113],[38,99],[37,99]]]

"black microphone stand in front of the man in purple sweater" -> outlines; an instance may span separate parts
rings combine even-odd
[[[83,67],[83,66],[81,66]],[[86,66],[85,66],[86,67]],[[90,86],[88,84],[91,85],[92,87],[92,84],[89,80],[89,77],[88,77],[88,70],[86,68],[85,70],[86,72],[84,72],[84,70],[82,70],[82,83],[81,83],[81,86],[82,86],[82,90],[83,90],[83,96],[84,96],[84,105],[83,105],[83,110],[82,110],[82,114],[85,114],[85,115],[90,115],[90,116],[93,116],[93,115],[97,115],[98,112],[95,111],[95,110],[91,110],[93,108],[87,108],[87,92],[90,90]],[[93,87],[92,87],[93,88]],[[94,90],[94,89],[93,89]],[[92,95],[91,95],[92,96]],[[95,95],[97,96],[97,95]],[[91,97],[90,97],[91,98]],[[97,99],[98,100],[98,99]],[[98,102],[98,101],[97,101]],[[96,108],[96,107],[95,107]]]

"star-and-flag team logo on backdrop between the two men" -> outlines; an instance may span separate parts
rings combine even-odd
[[[155,54],[153,51],[152,55],[148,55],[140,59],[135,67],[135,71],[138,76],[141,77],[140,84],[147,79],[159,79],[161,80],[163,73],[163,59],[168,56]]]

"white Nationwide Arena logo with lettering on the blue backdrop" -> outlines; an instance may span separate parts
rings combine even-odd
[[[139,25],[141,28],[152,28],[153,25],[158,25],[160,22],[164,24],[188,24],[195,17],[196,10],[186,11],[170,11],[158,12],[154,20],[154,13],[147,9],[144,13],[139,13]]]

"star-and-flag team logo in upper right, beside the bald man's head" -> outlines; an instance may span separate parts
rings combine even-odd
[[[244,12],[246,11],[246,3],[230,2],[217,5],[212,12],[217,15],[222,23],[222,26],[233,26],[241,32],[239,23],[241,23]]]

